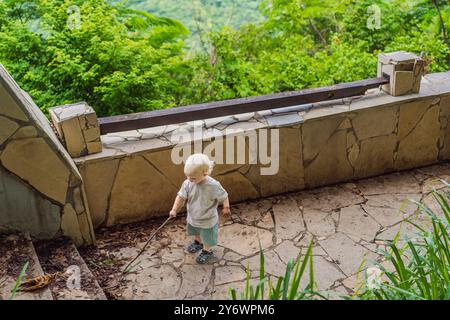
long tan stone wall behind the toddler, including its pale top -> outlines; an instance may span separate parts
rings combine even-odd
[[[279,129],[276,175],[261,175],[264,165],[248,158],[215,167],[212,176],[236,203],[448,160],[449,116],[447,72],[425,76],[418,94],[393,97],[376,89],[351,99],[103,135],[101,153],[75,162],[94,227],[109,226],[168,214],[185,179],[183,165],[170,156],[170,134],[180,128],[239,128],[245,135]]]

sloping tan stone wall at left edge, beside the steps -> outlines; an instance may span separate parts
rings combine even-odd
[[[95,243],[81,175],[50,122],[0,65],[0,232]]]

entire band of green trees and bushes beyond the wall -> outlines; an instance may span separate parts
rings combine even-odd
[[[431,0],[4,0],[0,62],[42,110],[85,100],[100,116],[366,79],[380,52],[439,72],[438,3],[443,24]]]

